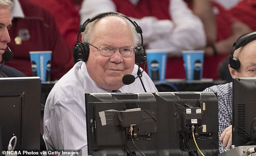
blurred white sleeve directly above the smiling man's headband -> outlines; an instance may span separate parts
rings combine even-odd
[[[111,0],[84,0],[79,10],[80,23],[101,12],[116,12],[115,4]]]

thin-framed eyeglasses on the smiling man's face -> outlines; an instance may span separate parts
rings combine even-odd
[[[88,43],[89,45],[91,45],[90,43]],[[101,55],[103,56],[112,56],[114,55],[115,51],[118,49],[120,54],[123,57],[132,57],[134,54],[134,47],[121,47],[121,48],[116,48],[116,47],[112,47],[109,45],[103,45],[101,47],[95,47],[94,45],[91,45],[94,48],[99,49]]]

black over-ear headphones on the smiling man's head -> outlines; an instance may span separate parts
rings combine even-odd
[[[109,14],[121,15],[122,17],[124,17],[128,21],[130,21],[132,23],[132,25],[134,25],[136,32],[141,35],[141,46],[140,47],[138,47],[138,46],[134,47],[134,49],[135,49],[135,51],[134,51],[135,63],[136,64],[145,63],[146,62],[146,56],[145,56],[145,51],[143,49],[143,36],[142,36],[141,27],[138,26],[135,21],[132,21],[127,16],[125,16],[123,14],[120,14],[118,12],[103,12],[103,13],[97,14],[97,15],[93,16],[91,19],[88,18],[82,25],[80,25],[80,27],[78,29],[78,38],[77,38],[76,44],[73,48],[73,57],[75,58],[75,60],[76,61],[87,62],[88,57],[89,57],[89,53],[90,53],[89,44],[86,43],[86,42],[80,42],[79,41],[80,33],[84,32],[84,30],[86,28],[86,25],[88,25],[88,23],[91,23],[92,21],[95,21],[95,20],[97,20],[99,18],[102,18],[104,16],[107,16]]]

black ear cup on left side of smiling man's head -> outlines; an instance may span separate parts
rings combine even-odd
[[[76,43],[73,48],[73,57],[76,61],[87,62],[90,53],[90,47],[88,43],[80,42]]]

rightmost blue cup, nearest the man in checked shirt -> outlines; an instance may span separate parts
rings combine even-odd
[[[204,51],[182,51],[186,80],[201,80],[203,77]]]

